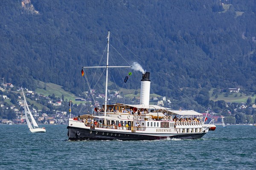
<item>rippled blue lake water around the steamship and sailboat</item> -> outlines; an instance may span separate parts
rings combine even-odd
[[[256,127],[217,126],[202,139],[67,141],[67,125],[0,125],[0,169],[256,170]]]

